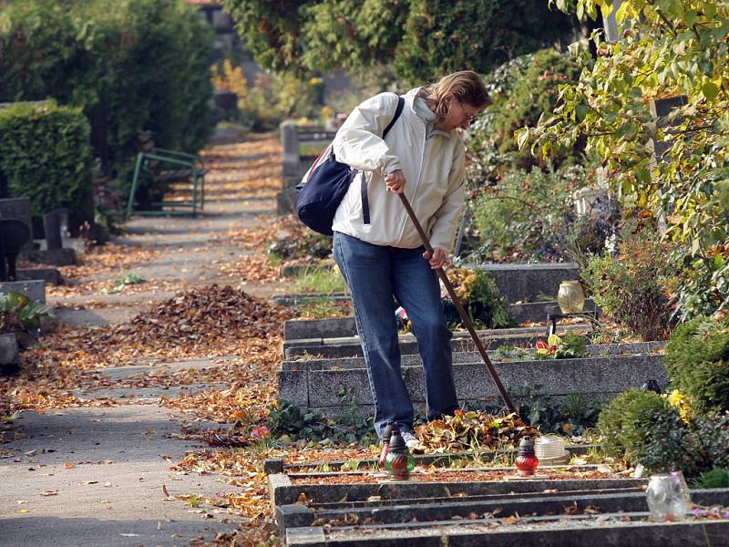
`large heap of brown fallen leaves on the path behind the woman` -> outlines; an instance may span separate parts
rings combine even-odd
[[[176,294],[96,338],[153,348],[219,346],[221,341],[277,335],[289,315],[286,308],[230,285],[213,284]]]

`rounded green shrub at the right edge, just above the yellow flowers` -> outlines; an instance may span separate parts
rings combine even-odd
[[[729,410],[729,320],[697,317],[676,327],[665,363],[673,387],[696,408]]]

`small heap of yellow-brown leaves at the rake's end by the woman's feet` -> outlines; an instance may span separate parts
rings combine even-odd
[[[516,413],[494,416],[465,410],[416,427],[423,448],[434,452],[516,448],[524,436],[537,433],[537,428],[525,424]]]

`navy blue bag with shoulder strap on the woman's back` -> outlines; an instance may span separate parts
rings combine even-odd
[[[397,98],[395,116],[383,131],[387,132],[395,125],[405,106],[402,97]],[[299,220],[314,232],[332,235],[334,214],[349,185],[354,181],[357,170],[334,158],[334,149],[330,144],[313,162],[312,168],[306,172],[302,181],[296,186],[296,214]],[[364,223],[370,223],[369,203],[367,201],[367,185],[362,185],[362,212]]]

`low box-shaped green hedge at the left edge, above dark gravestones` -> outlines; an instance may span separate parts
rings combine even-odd
[[[93,218],[88,133],[80,108],[54,101],[0,108],[0,172],[11,197],[30,198],[36,225],[59,207],[77,222]]]

